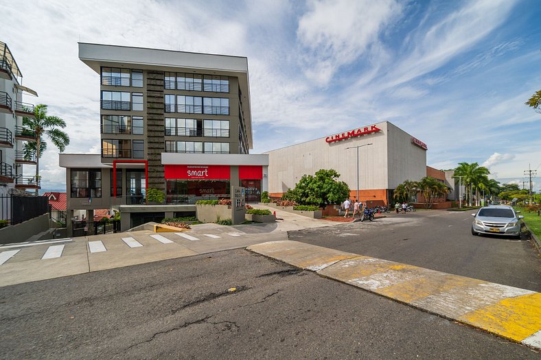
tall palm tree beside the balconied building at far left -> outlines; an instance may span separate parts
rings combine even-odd
[[[47,142],[42,139],[43,135],[47,135],[47,138],[58,147],[60,152],[66,149],[69,145],[69,136],[60,128],[66,127],[66,121],[60,119],[60,117],[47,116],[47,105],[39,104],[34,108],[34,117],[23,117],[23,126],[30,128],[36,132],[36,141],[26,143],[24,146],[25,156],[36,156],[36,182],[40,178],[39,176],[39,158],[47,149]],[[38,189],[36,189],[36,195],[38,195]]]

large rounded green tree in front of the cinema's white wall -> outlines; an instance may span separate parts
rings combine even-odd
[[[284,194],[284,199],[300,205],[340,204],[349,197],[349,187],[338,178],[340,174],[334,169],[318,170],[314,176],[303,175],[295,188]]]

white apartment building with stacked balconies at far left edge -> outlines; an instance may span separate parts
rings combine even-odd
[[[0,196],[3,197],[13,193],[14,188],[40,189],[35,167],[27,169],[28,165],[36,165],[36,158],[23,151],[27,141],[36,140],[36,133],[23,127],[23,117],[34,117],[34,105],[23,102],[23,93],[38,96],[36,91],[23,86],[21,69],[8,45],[0,42]],[[1,208],[1,219],[9,219],[10,209]]]

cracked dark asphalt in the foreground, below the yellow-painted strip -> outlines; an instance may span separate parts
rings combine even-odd
[[[0,323],[2,359],[539,359],[246,250],[2,287]]]

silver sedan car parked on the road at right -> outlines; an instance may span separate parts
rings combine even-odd
[[[507,235],[520,239],[520,219],[511,206],[485,206],[479,212],[472,214],[475,217],[472,224],[472,235],[491,234]]]

